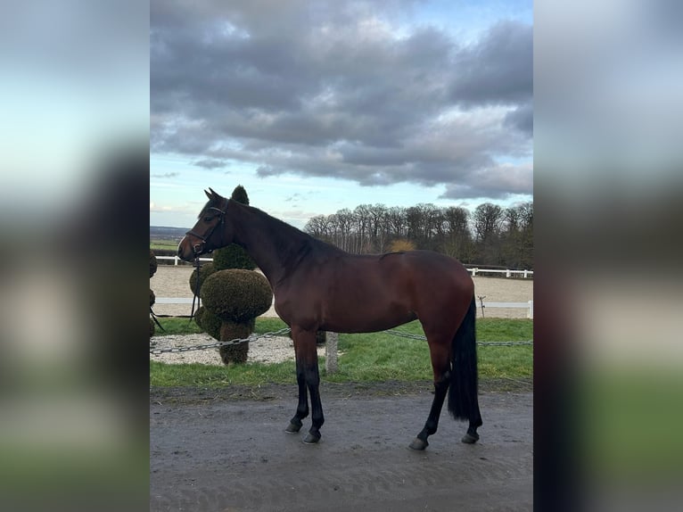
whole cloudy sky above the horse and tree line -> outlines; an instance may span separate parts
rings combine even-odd
[[[150,223],[532,199],[532,2],[152,0]]]

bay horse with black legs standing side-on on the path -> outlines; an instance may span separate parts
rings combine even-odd
[[[434,375],[432,409],[410,443],[424,450],[436,433],[448,391],[448,410],[469,427],[462,442],[479,440],[474,338],[474,285],[457,260],[430,251],[357,255],[317,240],[257,208],[227,199],[211,188],[197,223],[178,244],[193,261],[206,252],[238,244],[267,277],[277,314],[292,329],[299,403],[285,432],[312,425],[303,442],[320,440],[325,418],[320,401],[316,333],[370,333],[418,319],[427,337]]]

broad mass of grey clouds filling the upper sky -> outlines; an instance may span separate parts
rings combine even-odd
[[[499,194],[487,169],[531,155],[531,26],[501,22],[472,45],[432,27],[396,37],[368,28],[368,5],[153,1],[152,151],[263,178],[469,177]]]

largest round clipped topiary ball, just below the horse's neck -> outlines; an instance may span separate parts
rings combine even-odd
[[[204,306],[222,320],[243,322],[270,309],[273,292],[266,277],[252,270],[218,270],[206,278]]]

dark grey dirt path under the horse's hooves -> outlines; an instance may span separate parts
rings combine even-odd
[[[407,448],[432,394],[382,396],[321,386],[319,444],[284,434],[295,386],[259,389],[259,400],[220,391],[152,390],[150,510],[531,510],[532,393],[481,393],[481,441],[441,417],[424,452]],[[308,429],[310,421],[304,422]]]

